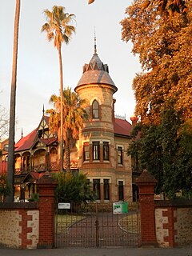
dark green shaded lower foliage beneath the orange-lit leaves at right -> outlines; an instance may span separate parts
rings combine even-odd
[[[127,152],[133,157],[137,154],[142,169],[154,174],[158,180],[155,192],[166,192],[169,198],[180,190],[183,194],[192,191],[191,121],[181,122],[173,110],[165,110],[159,125],[139,124],[140,138],[132,139]]]

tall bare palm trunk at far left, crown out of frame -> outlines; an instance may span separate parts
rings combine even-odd
[[[18,62],[18,24],[20,15],[20,0],[16,0],[16,9],[14,16],[14,52],[12,65],[12,79],[10,90],[10,130],[9,130],[9,150],[8,150],[8,184],[10,186],[10,195],[6,197],[6,202],[14,201],[14,128],[15,128],[15,99],[16,99],[16,81],[17,81],[17,62]]]

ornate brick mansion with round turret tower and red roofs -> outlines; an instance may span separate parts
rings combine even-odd
[[[109,68],[98,57],[96,46],[89,64],[83,66],[82,77],[75,92],[87,100],[89,122],[79,133],[70,154],[70,170],[82,172],[90,181],[98,202],[135,200],[137,191],[133,173],[134,161],[127,156],[132,124],[114,116],[114,93],[118,88],[110,78]],[[38,192],[36,182],[45,172],[60,169],[59,143],[50,133],[49,116],[44,111],[38,127],[15,144],[14,195],[29,199]],[[7,145],[0,160],[0,172],[6,171]],[[65,160],[63,163],[65,171]],[[134,168],[135,169],[135,168]]]

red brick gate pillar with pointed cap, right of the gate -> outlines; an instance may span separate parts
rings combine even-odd
[[[157,244],[154,217],[154,186],[157,181],[147,170],[136,179],[139,189],[142,246]]]

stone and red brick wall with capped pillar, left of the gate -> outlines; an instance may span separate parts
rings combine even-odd
[[[17,249],[54,246],[54,188],[49,174],[38,180],[38,203],[0,203],[0,245]]]

